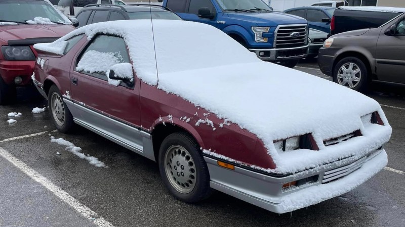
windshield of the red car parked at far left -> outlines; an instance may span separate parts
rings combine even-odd
[[[35,17],[48,18],[54,23],[63,23],[63,18],[45,1],[2,0],[0,1],[0,22],[26,24]]]

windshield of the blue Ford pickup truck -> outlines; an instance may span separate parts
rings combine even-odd
[[[224,11],[272,11],[262,0],[217,0],[217,2]]]

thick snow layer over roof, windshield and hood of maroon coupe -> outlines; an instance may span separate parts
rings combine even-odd
[[[124,37],[141,80],[255,134],[263,141],[278,173],[344,157],[361,157],[381,147],[391,135],[391,127],[375,100],[331,81],[263,62],[209,25],[153,21],[155,60],[150,24],[150,20],[97,23],[54,43],[34,47],[61,53],[64,40],[79,33],[86,33],[88,39],[99,32]],[[369,114],[374,111],[379,112],[385,126],[370,123]],[[362,118],[366,115],[368,122]],[[361,138],[342,145],[323,145],[324,140],[356,130],[362,132]],[[278,153],[274,147],[275,140],[308,133],[312,133],[319,151]]]

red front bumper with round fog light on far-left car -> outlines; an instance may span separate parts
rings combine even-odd
[[[4,82],[12,86],[24,86],[31,82],[35,61],[4,61],[0,60],[0,76]],[[15,84],[14,79],[21,77],[22,82]]]

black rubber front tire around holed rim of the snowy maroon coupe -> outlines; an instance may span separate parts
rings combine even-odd
[[[194,181],[194,186],[193,189],[187,188],[186,186],[184,186],[185,183],[184,181],[182,181],[180,175],[179,178],[177,180],[177,184],[178,187],[180,188],[180,190],[183,188],[184,190],[191,190],[189,192],[180,192],[179,189],[176,189],[175,186],[172,185],[172,183],[174,183],[174,181],[176,180],[169,180],[169,176],[173,179],[175,179],[176,174],[179,174],[179,172],[182,172],[181,169],[183,168],[183,165],[177,165],[178,168],[175,171],[176,163],[172,162],[173,157],[176,158],[176,156],[173,156],[171,154],[173,154],[173,147],[182,147],[185,149],[185,151],[188,152],[188,154],[191,156],[191,160],[193,162],[193,166],[194,167],[194,171],[192,172],[191,169],[189,169],[189,171],[187,173],[185,173],[185,177],[183,178],[187,178],[190,177],[191,178],[191,173],[193,173],[195,175],[195,181]],[[189,136],[186,133],[183,132],[177,132],[177,133],[173,133],[169,136],[167,136],[161,146],[160,146],[160,150],[159,150],[159,172],[160,172],[160,177],[162,178],[166,188],[169,190],[170,194],[172,194],[174,197],[176,197],[177,199],[186,202],[186,203],[196,203],[199,202],[201,200],[204,200],[206,198],[208,198],[211,195],[212,189],[210,188],[210,174],[208,172],[208,167],[207,167],[207,163],[204,160],[203,155],[201,154],[201,151],[199,149],[199,145],[195,142],[195,140]],[[176,149],[175,149],[176,150]],[[180,152],[180,149],[178,150]],[[165,158],[167,156],[167,154],[171,157],[170,161],[168,161],[168,163],[165,163]],[[179,158],[182,157],[183,152],[181,152],[181,154],[179,154]],[[185,159],[187,158],[188,154],[184,155]],[[181,157],[180,157],[181,156]],[[190,157],[189,157],[190,158]],[[172,164],[170,164],[172,163]],[[173,166],[173,167],[172,167]],[[174,173],[167,173],[166,169],[169,168],[173,170]],[[181,169],[180,169],[181,167]],[[187,166],[186,166],[187,167]],[[187,170],[187,169],[185,169]],[[184,172],[186,172],[184,170]],[[170,171],[170,170],[169,170]],[[177,172],[177,173],[176,173]],[[189,175],[190,173],[190,175]],[[184,175],[182,175],[184,176]],[[181,183],[179,181],[182,181]],[[171,183],[172,182],[172,183]],[[187,181],[186,181],[187,182]],[[191,181],[188,180],[188,182],[190,183]],[[183,184],[184,183],[184,184]],[[175,183],[174,183],[175,184]],[[183,185],[183,187],[181,186]],[[191,184],[190,184],[191,186]],[[176,186],[177,187],[177,186]]]

